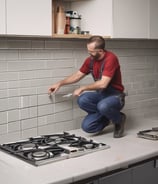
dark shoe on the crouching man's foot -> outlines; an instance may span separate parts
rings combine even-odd
[[[118,124],[115,124],[114,138],[123,137],[126,115],[121,112],[121,116],[122,116],[121,122]]]

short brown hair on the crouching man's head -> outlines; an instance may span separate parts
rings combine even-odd
[[[95,49],[105,49],[105,40],[103,37],[101,36],[91,36],[88,41],[87,44],[93,43],[95,42]]]

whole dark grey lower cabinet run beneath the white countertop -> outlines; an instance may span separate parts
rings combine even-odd
[[[113,171],[95,179],[87,178],[74,184],[157,184],[158,160],[153,158],[131,165],[127,169]]]

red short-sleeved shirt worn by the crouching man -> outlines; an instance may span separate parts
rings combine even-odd
[[[82,73],[85,73],[85,74],[90,73],[90,62],[91,62],[91,57],[88,57],[84,61],[83,65],[80,68],[80,71]],[[117,56],[110,51],[105,51],[105,55],[102,60],[93,61],[93,75],[95,76],[95,78],[99,78],[100,68],[103,62],[104,62],[104,67],[103,67],[102,76],[108,76],[112,78],[109,85],[111,85],[112,87],[114,87],[119,91],[123,91],[124,86],[122,84],[120,64]]]

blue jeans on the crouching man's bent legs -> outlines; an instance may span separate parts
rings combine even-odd
[[[82,122],[82,129],[88,133],[96,133],[103,130],[110,120],[119,123],[120,110],[124,104],[123,93],[114,88],[82,93],[78,97],[78,105],[88,113]]]

